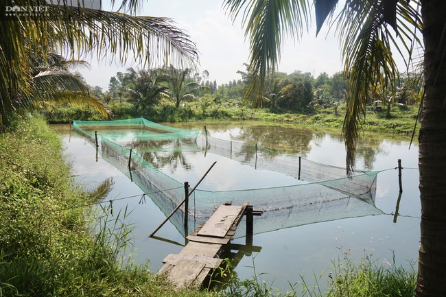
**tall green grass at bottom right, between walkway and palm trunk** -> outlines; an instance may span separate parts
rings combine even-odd
[[[287,292],[268,285],[261,280],[261,274],[255,274],[248,280],[239,280],[233,276],[231,284],[222,292],[222,296],[231,297],[413,297],[416,285],[416,272],[412,263],[408,268],[397,266],[395,255],[390,265],[380,264],[371,255],[365,254],[360,261],[353,261],[349,251],[342,252],[342,257],[333,261],[333,268],[324,280],[324,274],[314,274],[316,285],[307,285],[305,277],[301,281],[290,283]],[[327,282],[327,289],[320,289],[321,282]]]

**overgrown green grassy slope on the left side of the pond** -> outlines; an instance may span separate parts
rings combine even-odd
[[[61,153],[41,119],[15,121],[0,134],[0,295],[172,296],[148,268],[121,265],[117,251],[130,227],[122,215],[83,206],[99,191],[75,185]],[[117,237],[105,220],[121,228]]]

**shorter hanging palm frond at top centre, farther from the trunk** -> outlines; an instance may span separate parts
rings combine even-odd
[[[306,0],[227,0],[223,5],[235,20],[242,10],[242,25],[250,42],[249,68],[255,79],[246,97],[254,97],[261,104],[263,86],[274,73],[281,56],[283,39],[299,38],[309,23],[309,3]]]

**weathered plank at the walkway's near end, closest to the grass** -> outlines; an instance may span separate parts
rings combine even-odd
[[[194,281],[203,268],[204,263],[202,262],[183,259],[178,261],[175,267],[170,270],[167,279],[171,281],[175,287],[193,286]]]

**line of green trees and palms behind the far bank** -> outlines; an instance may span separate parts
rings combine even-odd
[[[93,93],[105,102],[118,106],[131,104],[131,115],[148,115],[155,106],[167,108],[185,107],[198,104],[209,107],[221,104],[255,106],[268,108],[270,112],[308,112],[314,108],[334,107],[345,102],[349,88],[348,78],[342,71],[329,75],[320,73],[316,78],[312,73],[294,71],[272,73],[261,91],[261,99],[248,95],[248,88],[254,74],[244,64],[246,71],[237,71],[241,76],[226,84],[218,85],[209,80],[209,72],[193,69],[168,68],[134,69],[125,73],[117,72],[110,78],[108,90],[93,87]],[[390,93],[380,84],[376,84],[368,93],[371,108],[387,107],[392,104],[413,105],[420,102],[423,80],[420,73],[400,73],[397,91]]]

